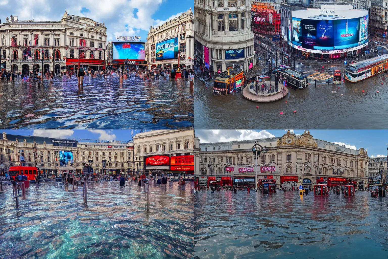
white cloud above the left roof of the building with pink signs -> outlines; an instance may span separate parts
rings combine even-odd
[[[201,143],[275,137],[267,130],[196,130],[196,136],[199,138]]]

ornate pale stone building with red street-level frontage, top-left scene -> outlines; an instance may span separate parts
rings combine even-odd
[[[101,70],[106,49],[106,27],[67,12],[61,21],[19,21],[10,16],[0,24],[1,59],[6,70],[22,73],[58,72],[78,68]],[[79,55],[78,55],[79,53]],[[43,59],[43,60],[42,60]]]

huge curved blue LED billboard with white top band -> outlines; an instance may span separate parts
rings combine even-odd
[[[339,53],[368,44],[367,10],[308,9],[292,12],[291,43],[314,53]]]

